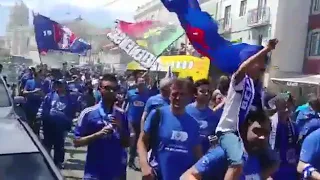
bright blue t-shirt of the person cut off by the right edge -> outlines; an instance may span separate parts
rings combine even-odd
[[[320,169],[320,129],[312,132],[303,141],[300,161]]]

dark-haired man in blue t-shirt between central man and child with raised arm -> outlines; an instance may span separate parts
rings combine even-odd
[[[194,103],[186,107],[186,112],[199,123],[202,151],[206,153],[211,146],[209,139],[215,134],[220,116],[209,108],[210,82],[206,79],[201,79],[196,81],[194,86],[196,99]]]

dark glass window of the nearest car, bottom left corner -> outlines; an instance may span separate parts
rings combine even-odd
[[[40,153],[0,155],[0,179],[55,180]]]

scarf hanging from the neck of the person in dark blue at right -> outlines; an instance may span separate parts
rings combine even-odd
[[[273,116],[271,116],[271,134],[269,137],[269,143],[270,146],[273,150],[277,150],[278,152],[280,151],[281,148],[281,134],[277,136],[277,134],[279,133],[279,116],[278,113],[275,113]],[[286,160],[288,163],[290,164],[294,164],[296,163],[296,139],[295,139],[295,127],[291,121],[291,119],[289,119],[289,121],[287,122],[287,126],[288,126],[288,134],[287,134],[287,145],[286,145]]]

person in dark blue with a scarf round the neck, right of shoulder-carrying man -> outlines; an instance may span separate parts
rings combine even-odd
[[[298,129],[290,118],[288,95],[280,93],[274,98],[274,101],[276,113],[270,117],[269,144],[271,149],[278,152],[281,161],[278,171],[272,175],[272,178],[274,180],[296,180],[298,179],[296,167],[299,159]]]

